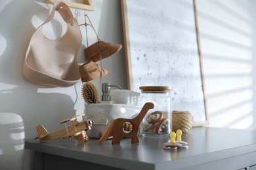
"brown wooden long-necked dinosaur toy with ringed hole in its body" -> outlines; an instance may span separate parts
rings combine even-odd
[[[102,137],[98,140],[98,143],[102,143],[105,141],[108,137],[113,136],[112,144],[119,144],[121,139],[123,137],[131,137],[131,143],[139,143],[138,139],[138,131],[139,126],[148,112],[149,109],[153,109],[154,104],[153,103],[146,103],[142,109],[140,110],[140,113],[132,119],[127,118],[117,118],[113,120],[109,126],[107,127],[106,131],[104,131]],[[129,126],[131,124],[131,126]],[[131,130],[129,133],[125,133],[124,130]]]

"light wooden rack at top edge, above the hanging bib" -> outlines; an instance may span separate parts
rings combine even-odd
[[[54,4],[56,1],[62,1],[63,3],[66,3],[68,7],[74,8],[74,9],[95,10],[95,6],[93,5],[93,0],[83,0],[83,3],[74,3],[71,1],[64,1],[64,0],[45,0],[44,3]]]

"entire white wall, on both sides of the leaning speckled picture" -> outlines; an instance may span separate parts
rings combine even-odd
[[[0,1],[0,112],[22,116],[26,139],[37,136],[35,127],[49,131],[62,127],[61,120],[84,112],[81,82],[69,88],[45,88],[28,82],[22,63],[30,37],[49,16],[43,0]],[[96,10],[87,12],[102,41],[123,44],[120,1],[93,1]],[[255,19],[253,0],[197,0],[203,72],[210,126],[256,129],[255,96]],[[52,7],[49,5],[49,7]],[[72,9],[72,12],[75,10]],[[83,24],[83,10],[76,16]],[[49,25],[51,28],[51,25]],[[77,56],[83,63],[83,44]],[[96,41],[91,30],[89,44]],[[102,82],[127,88],[124,48],[103,60],[109,74]],[[101,91],[100,80],[92,81]],[[101,94],[100,94],[101,95]],[[32,169],[33,152],[26,150],[25,169]]]

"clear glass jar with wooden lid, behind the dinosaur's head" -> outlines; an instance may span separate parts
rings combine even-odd
[[[154,109],[148,110],[140,124],[143,137],[169,137],[171,133],[171,90],[167,86],[140,87],[141,106],[147,102],[154,103]]]

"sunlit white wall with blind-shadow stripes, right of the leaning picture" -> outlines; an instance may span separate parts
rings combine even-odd
[[[256,129],[255,7],[197,0],[210,126]]]

